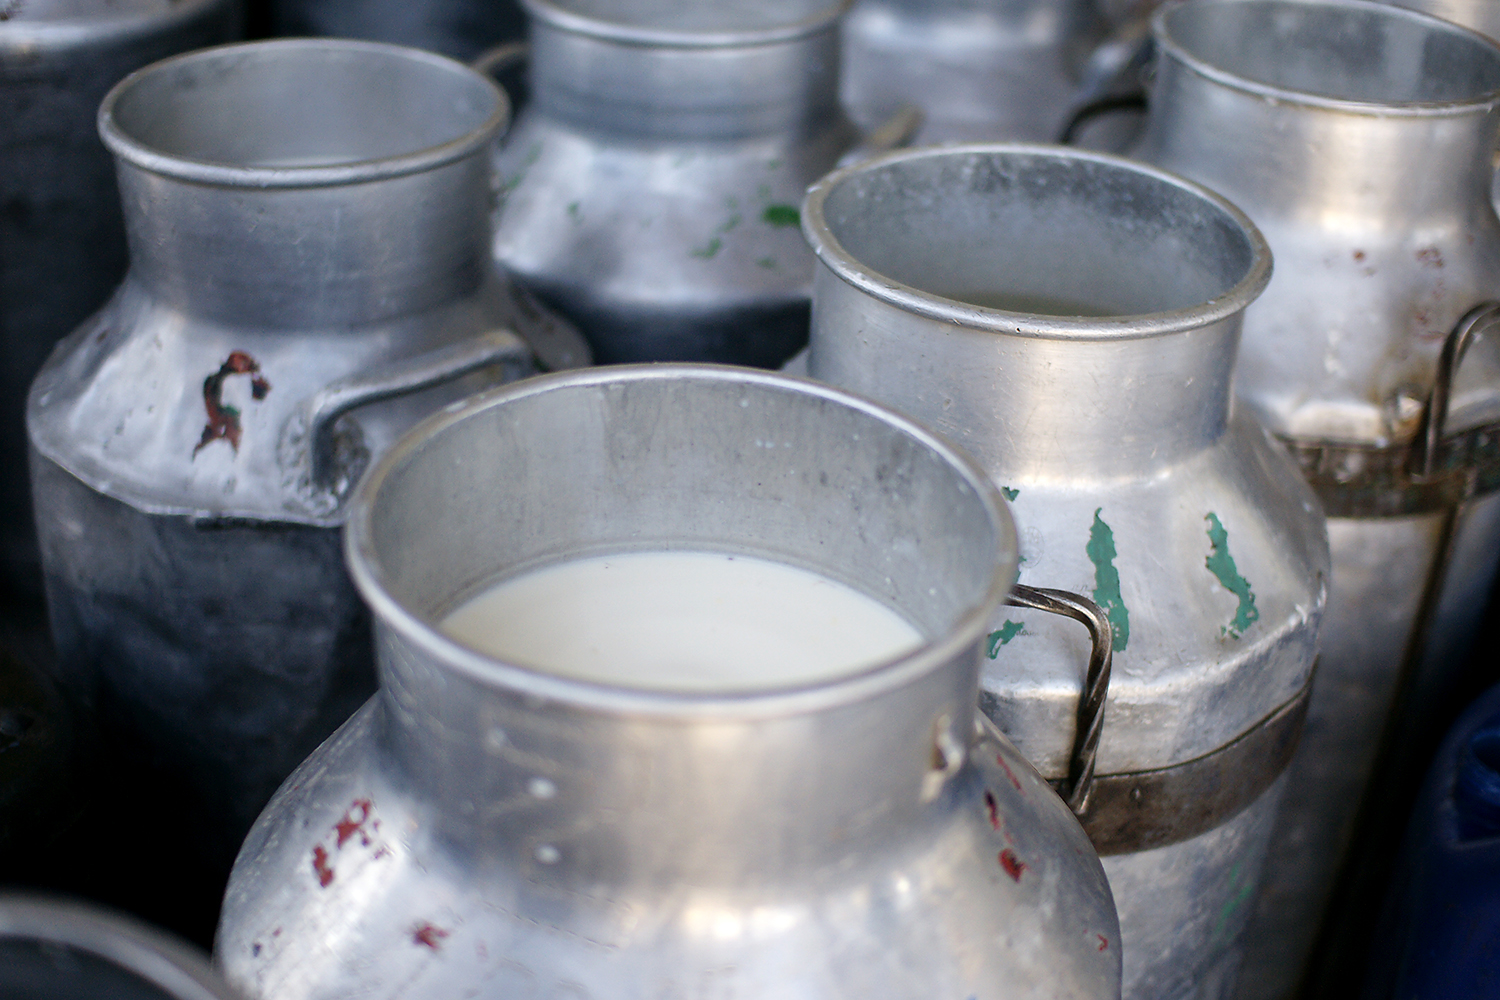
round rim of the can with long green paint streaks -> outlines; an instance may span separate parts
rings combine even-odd
[[[1005,309],[990,309],[945,298],[921,288],[906,285],[894,277],[880,274],[844,249],[834,235],[824,216],[824,202],[836,187],[855,174],[874,171],[891,163],[914,159],[933,159],[945,156],[1030,156],[1058,160],[1088,160],[1102,163],[1134,174],[1154,177],[1174,187],[1197,195],[1214,207],[1224,211],[1245,232],[1251,246],[1251,262],[1245,274],[1221,295],[1208,301],[1168,309],[1162,312],[1148,312],[1120,316],[1046,316],[1040,313],[1010,312]],[[998,334],[1018,337],[1038,337],[1047,340],[1134,340],[1140,337],[1166,336],[1200,330],[1210,324],[1228,319],[1242,312],[1270,282],[1272,256],[1270,246],[1264,234],[1251,222],[1250,216],[1240,211],[1224,196],[1170,171],[1131,160],[1110,153],[1095,153],[1062,145],[1044,145],[1036,142],[948,142],[924,148],[908,148],[861,160],[843,169],[834,171],[814,183],[802,202],[802,235],[812,246],[813,253],[828,270],[856,289],[890,303],[897,309],[951,322],[969,330],[984,330]]]

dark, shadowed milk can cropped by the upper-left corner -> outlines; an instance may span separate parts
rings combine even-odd
[[[122,76],[234,36],[234,0],[0,0],[0,588],[39,597],[26,393],[124,274],[94,112]]]

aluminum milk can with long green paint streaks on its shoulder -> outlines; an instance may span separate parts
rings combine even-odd
[[[808,193],[810,372],[928,421],[1000,486],[1018,579],[1114,631],[1080,819],[1120,913],[1124,994],[1224,997],[1306,708],[1328,541],[1230,385],[1270,276],[1256,226],[1130,160],[952,145]],[[998,612],[982,706],[1048,778],[1080,690],[1068,622]]]

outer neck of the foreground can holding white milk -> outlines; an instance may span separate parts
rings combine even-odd
[[[548,882],[758,891],[920,837],[945,808],[928,775],[934,747],[957,768],[974,733],[963,652],[884,691],[804,691],[765,711],[630,693],[568,703],[387,658],[380,739],[460,855],[519,858]]]

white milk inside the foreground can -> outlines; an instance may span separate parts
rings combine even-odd
[[[922,645],[885,604],[752,556],[630,552],[492,586],[442,631],[549,673],[657,691],[746,691],[855,673]]]

